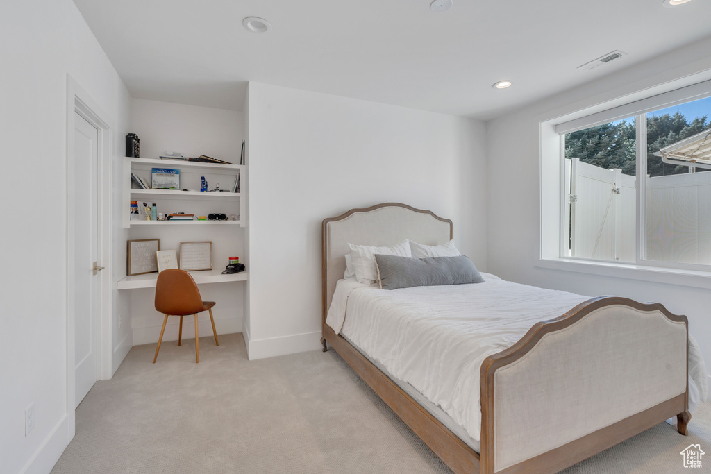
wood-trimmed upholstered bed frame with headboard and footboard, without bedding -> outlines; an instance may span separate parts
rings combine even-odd
[[[480,425],[470,429],[479,439],[454,428],[409,384],[389,377],[377,357],[326,324],[349,242],[436,245],[451,238],[451,220],[400,203],[325,219],[321,339],[324,352],[331,345],[451,470],[554,473],[672,417],[686,434],[688,321],[661,304],[601,296],[573,306],[570,300],[567,311],[532,323],[518,342],[487,355],[478,374],[469,375],[479,382],[469,382],[479,387]],[[487,276],[492,288],[494,279]]]

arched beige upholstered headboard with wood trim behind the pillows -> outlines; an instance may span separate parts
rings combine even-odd
[[[321,234],[324,321],[336,282],[343,278],[346,270],[343,256],[348,253],[349,243],[382,246],[410,239],[436,245],[449,242],[451,237],[451,220],[400,203],[351,209],[338,217],[324,219]]]

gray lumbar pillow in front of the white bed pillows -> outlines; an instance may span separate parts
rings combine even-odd
[[[413,259],[375,254],[380,288],[395,290],[412,286],[463,285],[484,279],[469,257]]]

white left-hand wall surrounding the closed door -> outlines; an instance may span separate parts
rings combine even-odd
[[[73,107],[67,101],[67,74],[109,115],[105,119],[116,156],[123,154],[130,103],[70,0],[4,1],[0,43],[5,176],[0,199],[6,204],[0,227],[5,249],[0,257],[5,335],[0,345],[0,470],[46,473],[74,427],[66,386],[66,115]],[[114,178],[117,166],[112,167]],[[121,235],[112,227],[114,241]],[[118,313],[128,302],[117,297],[112,306]],[[122,340],[114,331],[117,360],[122,359]],[[24,410],[31,403],[36,426],[25,436]]]

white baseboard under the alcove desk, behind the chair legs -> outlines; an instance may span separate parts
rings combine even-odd
[[[163,323],[155,326],[146,326],[144,328],[132,328],[133,345],[154,344],[158,342],[158,337],[161,335],[161,327]],[[168,324],[166,324],[166,332],[163,334],[163,340],[178,340],[178,326],[180,318],[178,316],[170,316]],[[242,318],[215,318],[215,329],[220,334],[232,334],[242,332]],[[198,318],[198,333],[202,336],[212,335],[213,326],[210,324],[210,317]],[[183,316],[183,340],[195,338],[195,319],[193,316]]]

